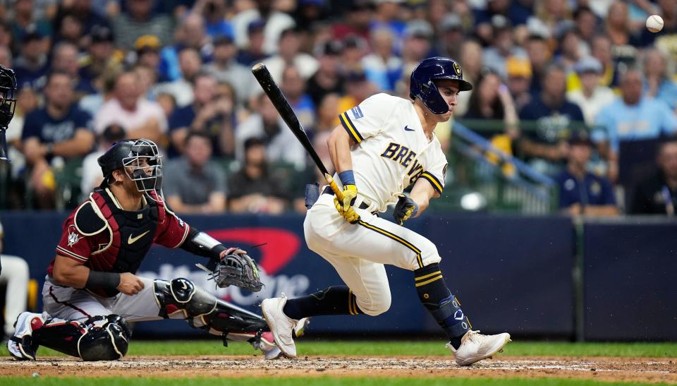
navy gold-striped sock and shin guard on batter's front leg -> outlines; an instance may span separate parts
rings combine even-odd
[[[461,337],[472,325],[461,310],[456,296],[446,287],[438,263],[426,265],[414,271],[416,292],[421,303],[446,332],[454,349],[461,346]]]

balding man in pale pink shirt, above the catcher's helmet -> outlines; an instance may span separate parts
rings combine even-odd
[[[118,76],[113,97],[104,102],[94,116],[96,133],[103,133],[106,126],[117,123],[125,128],[129,138],[148,138],[159,142],[161,135],[167,131],[166,116],[157,102],[141,98],[139,84],[138,74],[133,71]]]

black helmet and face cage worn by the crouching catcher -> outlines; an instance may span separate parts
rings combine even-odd
[[[136,188],[150,198],[161,198],[162,156],[152,140],[121,140],[113,144],[97,161],[104,174],[102,186],[109,184],[111,174],[124,169],[127,176],[136,183]],[[150,194],[154,191],[155,194]]]

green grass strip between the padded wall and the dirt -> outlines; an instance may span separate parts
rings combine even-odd
[[[298,342],[300,356],[446,356],[449,350],[441,341],[315,341]],[[224,347],[219,340],[132,341],[128,355],[252,355],[249,344],[233,343]],[[61,356],[40,348],[38,356]],[[511,342],[504,355],[510,356],[646,356],[677,358],[677,343],[571,343]]]

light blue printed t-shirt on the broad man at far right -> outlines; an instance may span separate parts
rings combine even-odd
[[[649,98],[642,98],[633,106],[616,98],[597,113],[594,123],[606,130],[593,133],[593,139],[597,142],[609,140],[611,149],[616,152],[621,140],[654,139],[661,133],[672,134],[677,130],[675,113],[661,100]]]

